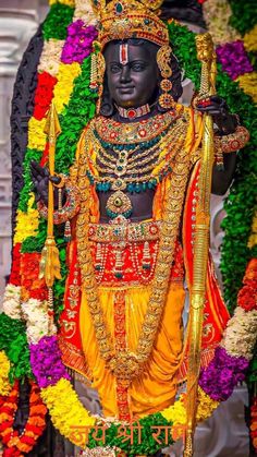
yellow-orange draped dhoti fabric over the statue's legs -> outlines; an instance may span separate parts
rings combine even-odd
[[[99,289],[105,320],[111,335],[114,334],[113,303],[115,290]],[[143,320],[150,296],[150,286],[131,288],[125,292],[126,338],[128,349],[136,349]],[[171,284],[161,325],[144,374],[128,388],[130,409],[134,418],[151,413],[171,405],[176,392],[175,373],[182,353],[182,310],[185,292],[182,284]],[[82,297],[81,335],[86,360],[93,372],[93,387],[97,388],[105,416],[119,414],[117,408],[115,378],[99,357],[95,330],[91,325],[86,297]]]

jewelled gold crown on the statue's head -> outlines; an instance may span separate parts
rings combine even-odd
[[[158,46],[169,45],[166,24],[156,11],[162,0],[112,0],[106,8],[100,7],[99,41],[103,48],[113,39],[143,38]],[[147,7],[148,8],[147,8]]]

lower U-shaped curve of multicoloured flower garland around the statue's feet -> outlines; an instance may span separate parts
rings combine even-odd
[[[252,268],[253,269],[253,268]],[[247,282],[245,286],[249,287]],[[9,306],[10,309],[11,306]],[[27,341],[29,342],[30,365],[33,374],[40,387],[41,398],[49,409],[54,426],[71,442],[85,447],[86,428],[94,428],[96,418],[85,410],[70,383],[69,374],[61,362],[58,348],[56,328],[50,332],[45,324],[48,318],[47,305],[40,301],[32,301],[24,305],[26,313]],[[15,315],[16,302],[13,301],[11,313]],[[38,324],[39,323],[39,324]],[[41,323],[41,324],[40,324]],[[229,321],[227,330],[215,357],[199,378],[197,419],[206,419],[220,401],[224,401],[232,394],[234,386],[245,378],[245,372],[252,357],[257,333],[257,303],[249,305],[244,291],[238,294],[238,305],[235,315]],[[243,353],[243,356],[242,356]],[[122,423],[101,420],[107,425],[106,444],[114,446],[127,454],[155,453],[159,444],[152,441],[150,426],[173,428],[171,443],[183,434],[185,426],[185,394],[182,394],[173,406],[166,410],[150,414],[138,421],[143,428],[144,443],[134,442],[130,445],[119,438],[119,428]],[[99,425],[99,419],[98,419]],[[82,433],[84,428],[84,433]],[[99,445],[99,438],[89,435],[89,447]]]

